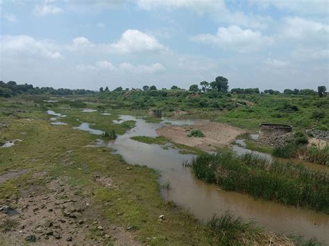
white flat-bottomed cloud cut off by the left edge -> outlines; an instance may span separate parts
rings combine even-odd
[[[27,35],[6,35],[0,38],[0,44],[3,55],[19,55],[19,58],[64,58],[56,44],[47,40],[36,40]]]

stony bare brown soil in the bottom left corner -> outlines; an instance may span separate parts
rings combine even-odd
[[[110,184],[109,177],[98,177]],[[92,201],[76,195],[64,180],[53,180],[47,193],[37,186],[22,197],[0,201],[0,240],[4,245],[140,245],[133,232],[101,218]],[[35,242],[35,243],[34,243]],[[0,245],[1,245],[0,243]]]

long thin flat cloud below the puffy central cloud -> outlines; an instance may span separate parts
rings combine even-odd
[[[80,71],[116,71],[121,73],[158,73],[166,70],[166,68],[160,63],[134,66],[128,62],[122,62],[118,66],[115,66],[108,61],[96,62],[94,65],[79,64],[76,66],[76,69]]]

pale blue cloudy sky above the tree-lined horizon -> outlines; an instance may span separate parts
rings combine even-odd
[[[0,0],[0,80],[329,88],[329,0]]]

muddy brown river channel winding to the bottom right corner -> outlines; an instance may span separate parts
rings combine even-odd
[[[165,200],[174,201],[178,206],[194,213],[201,221],[207,221],[214,213],[221,215],[230,210],[235,216],[241,216],[245,220],[255,220],[258,225],[270,231],[299,234],[305,238],[316,237],[329,243],[329,216],[325,213],[255,200],[250,195],[242,193],[221,191],[219,186],[196,179],[192,170],[182,165],[183,161],[194,158],[193,155],[182,155],[176,149],[164,149],[156,144],[130,139],[134,136],[157,137],[155,130],[166,125],[168,120],[146,123],[142,118],[133,116],[122,115],[120,118],[123,121],[136,121],[135,128],[124,135],[119,135],[115,141],[108,143],[108,146],[115,149],[115,153],[121,155],[129,164],[146,165],[159,170],[160,184],[169,183],[171,186],[169,190],[162,190],[162,197]],[[184,125],[192,121],[174,120],[171,123]],[[84,130],[90,131],[89,125],[85,125]],[[236,145],[233,146],[233,150],[238,155],[251,151]],[[271,157],[258,153],[263,157]]]

